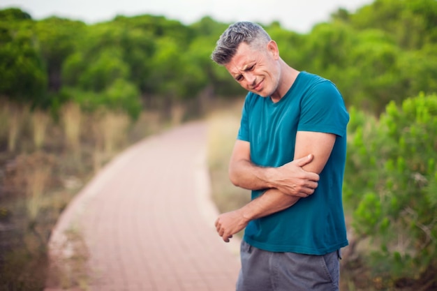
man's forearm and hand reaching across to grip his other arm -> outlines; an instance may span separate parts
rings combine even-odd
[[[232,184],[249,190],[276,188],[281,193],[307,197],[318,186],[318,174],[305,172],[303,165],[310,163],[313,156],[286,163],[281,167],[259,167],[251,162],[249,142],[235,142],[229,164]]]

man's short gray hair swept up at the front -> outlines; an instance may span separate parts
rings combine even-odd
[[[217,40],[211,59],[219,65],[225,65],[235,56],[241,43],[251,47],[267,44],[272,38],[259,25],[253,22],[235,22],[230,24]]]

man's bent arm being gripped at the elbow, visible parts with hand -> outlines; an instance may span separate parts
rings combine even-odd
[[[312,154],[313,160],[311,163],[302,165],[302,168],[305,171],[320,174],[331,155],[335,140],[336,135],[332,133],[298,131],[295,144],[295,160]],[[269,189],[260,197],[244,205],[244,207],[218,216],[216,230],[223,238],[223,241],[228,242],[232,235],[243,230],[249,221],[288,208],[279,207],[279,205],[284,205],[283,200],[290,200],[288,207],[291,207],[299,200],[299,197],[279,193],[274,188]]]

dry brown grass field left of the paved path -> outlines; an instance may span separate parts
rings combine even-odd
[[[70,104],[60,117],[57,124],[45,112],[1,103],[1,291],[43,290],[50,272],[47,243],[61,211],[96,168],[161,128],[155,124],[161,119],[149,112],[131,124],[119,112],[93,114]],[[87,290],[87,247],[80,232],[67,236],[72,255],[55,279],[64,288]]]

